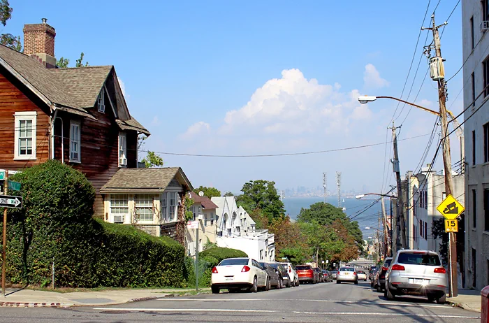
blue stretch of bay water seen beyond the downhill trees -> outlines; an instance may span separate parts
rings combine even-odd
[[[297,219],[301,208],[309,208],[311,204],[317,202],[323,202],[323,197],[287,197],[284,199],[284,206],[286,214],[290,215],[291,219]],[[343,202],[344,201],[344,202]],[[346,210],[344,213],[352,218],[353,221],[358,221],[360,230],[363,231],[363,238],[367,239],[369,236],[373,236],[376,231],[372,229],[365,229],[365,227],[378,228],[379,212],[381,211],[381,203],[377,202],[371,206],[365,212],[360,213],[362,210],[370,206],[375,200],[344,198],[342,199],[342,207]],[[338,206],[337,196],[328,196],[326,203],[330,203],[333,206]],[[386,206],[386,210],[389,213],[389,208]]]

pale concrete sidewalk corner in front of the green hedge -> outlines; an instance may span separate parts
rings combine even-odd
[[[208,288],[207,288],[208,289]],[[206,291],[207,289],[203,289]],[[6,296],[0,294],[0,307],[70,307],[103,306],[147,301],[192,292],[195,289],[107,289],[90,292],[45,292],[32,289],[6,289]]]

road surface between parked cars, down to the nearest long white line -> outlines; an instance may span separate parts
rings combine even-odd
[[[194,311],[210,311],[221,313],[226,311],[247,310],[261,311],[261,313],[285,313],[289,315],[302,314],[342,315],[358,316],[358,313],[377,313],[386,317],[444,317],[462,319],[465,317],[479,317],[476,313],[467,313],[460,308],[428,303],[423,299],[408,299],[407,301],[386,301],[384,296],[369,290],[370,285],[363,286],[353,284],[318,284],[301,285],[298,288],[271,290],[258,293],[238,294],[203,294],[185,297],[163,297],[156,301],[146,301],[136,304],[124,304],[112,306],[117,310],[137,308],[138,310],[184,310],[188,313]],[[101,308],[98,308],[100,310]],[[350,313],[350,314],[349,314]],[[455,320],[456,321],[456,320]]]

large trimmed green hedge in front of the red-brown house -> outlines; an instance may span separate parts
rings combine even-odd
[[[184,247],[94,220],[94,187],[82,173],[47,161],[11,179],[22,183],[24,205],[8,212],[10,282],[48,285],[54,262],[59,287],[184,285]]]

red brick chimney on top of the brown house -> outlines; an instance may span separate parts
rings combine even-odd
[[[56,31],[46,18],[42,24],[24,24],[24,54],[37,59],[48,69],[56,67],[54,37]]]

